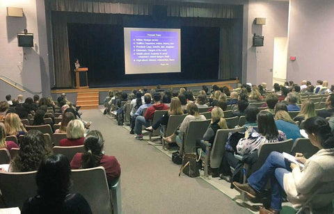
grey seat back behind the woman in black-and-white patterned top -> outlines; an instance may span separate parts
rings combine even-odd
[[[280,153],[285,152],[290,154],[292,145],[294,145],[294,140],[284,140],[280,142],[269,142],[264,143],[262,147],[260,148],[260,151],[257,152],[258,157],[257,161],[252,165],[252,172],[255,172],[262,167],[264,162],[267,160],[267,157],[269,154],[271,154],[271,151],[278,151]]]

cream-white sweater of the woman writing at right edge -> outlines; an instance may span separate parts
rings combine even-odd
[[[334,149],[321,149],[305,162],[301,171],[295,167],[292,173],[284,174],[283,184],[287,198],[294,204],[306,201],[322,187],[333,194],[319,194],[312,202],[317,206],[329,204],[334,197]],[[321,189],[322,189],[321,188]]]

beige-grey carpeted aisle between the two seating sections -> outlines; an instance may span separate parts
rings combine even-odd
[[[123,213],[250,213],[202,179],[178,176],[180,167],[100,110],[82,110],[104,135],[104,151],[122,168]]]

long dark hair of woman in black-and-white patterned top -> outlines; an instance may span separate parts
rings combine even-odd
[[[257,126],[259,133],[264,135],[267,140],[274,140],[278,137],[275,120],[269,111],[262,110],[257,114]]]

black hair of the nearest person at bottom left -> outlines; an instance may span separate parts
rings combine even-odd
[[[71,186],[71,167],[67,157],[55,154],[44,158],[38,167],[36,183],[38,194],[44,199],[43,206],[61,209]]]

